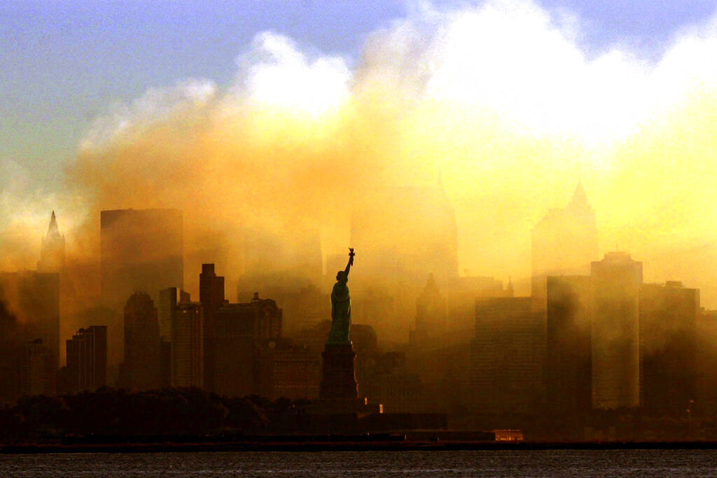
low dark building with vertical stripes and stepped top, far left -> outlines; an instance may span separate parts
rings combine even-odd
[[[107,327],[80,329],[67,345],[67,391],[95,391],[107,385]]]

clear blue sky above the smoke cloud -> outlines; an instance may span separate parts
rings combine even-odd
[[[437,9],[466,3],[434,1]],[[586,54],[615,44],[649,61],[717,0],[541,0],[578,20]],[[237,54],[272,30],[304,49],[359,61],[366,35],[420,8],[399,0],[0,1],[0,161],[57,187],[62,164],[97,115],[149,87],[232,81]]]

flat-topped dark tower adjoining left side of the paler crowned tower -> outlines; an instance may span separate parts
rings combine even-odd
[[[547,284],[547,404],[565,424],[578,424],[592,409],[592,279],[548,277]]]

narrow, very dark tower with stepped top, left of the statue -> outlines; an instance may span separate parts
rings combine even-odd
[[[214,264],[201,264],[199,274],[199,302],[204,322],[204,388],[215,391],[214,387],[214,312],[224,304],[224,277],[214,273]]]

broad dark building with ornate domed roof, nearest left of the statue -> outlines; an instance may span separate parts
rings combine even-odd
[[[214,391],[220,395],[257,393],[257,352],[281,336],[282,310],[255,294],[251,302],[226,304],[214,311]]]

